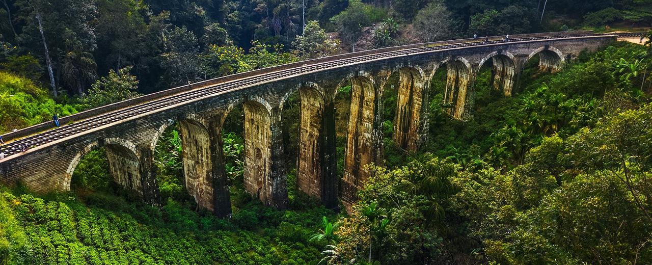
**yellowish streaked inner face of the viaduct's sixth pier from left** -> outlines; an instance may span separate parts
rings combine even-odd
[[[400,69],[399,74],[394,144],[408,151],[417,151],[424,82],[419,72],[408,67]]]

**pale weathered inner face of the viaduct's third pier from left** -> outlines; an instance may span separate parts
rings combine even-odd
[[[263,101],[264,102],[264,101]],[[271,108],[260,101],[244,101],[244,189],[265,204],[273,200],[271,181]],[[258,155],[259,150],[259,155]],[[259,166],[263,166],[262,174]],[[262,183],[258,187],[258,183]]]

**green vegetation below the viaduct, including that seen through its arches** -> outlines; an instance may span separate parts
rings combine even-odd
[[[447,117],[444,78],[434,78],[428,141],[404,153],[393,146],[393,121],[385,121],[386,164],[369,166],[374,176],[350,215],[297,191],[293,170],[289,210],[265,208],[244,192],[241,108],[223,133],[233,217],[198,210],[185,191],[181,130],[173,125],[155,152],[162,208],[115,185],[100,148],[84,157],[69,193],[3,188],[0,257],[6,264],[647,264],[650,59],[645,46],[627,42],[584,52],[556,73],[539,72],[535,59],[511,97],[483,67],[466,122]],[[383,95],[388,119],[396,82],[390,78]],[[349,97],[342,87],[338,104]],[[288,147],[298,144],[298,104],[291,97],[284,107]]]

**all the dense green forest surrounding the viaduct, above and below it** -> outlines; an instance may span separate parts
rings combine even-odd
[[[353,50],[571,29],[649,30],[652,1],[1,0],[0,133],[145,93]],[[648,33],[649,36],[650,33]],[[648,38],[649,39],[649,38]],[[71,191],[0,186],[0,264],[652,264],[652,50],[614,42],[558,72],[537,56],[505,96],[492,61],[468,121],[434,73],[417,153],[391,138],[398,73],[383,87],[385,164],[350,213],[295,187],[301,98],[282,110],[289,209],[244,191],[244,112],[222,128],[233,215],[188,195],[183,132],[155,148],[163,205],[116,185],[106,149]],[[342,176],[351,86],[336,95]]]

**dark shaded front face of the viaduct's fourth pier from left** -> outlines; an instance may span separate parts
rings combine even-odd
[[[339,211],[337,176],[337,144],[335,136],[335,105],[329,102],[321,119],[319,134],[319,160],[321,161],[321,203],[326,208]]]

